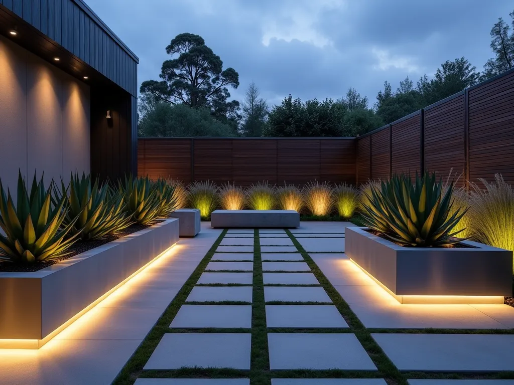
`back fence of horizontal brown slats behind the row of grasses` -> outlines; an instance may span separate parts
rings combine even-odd
[[[248,186],[356,183],[354,138],[139,138],[138,175]]]

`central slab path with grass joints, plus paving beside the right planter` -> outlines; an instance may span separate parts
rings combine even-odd
[[[342,228],[228,229],[135,383],[407,385],[418,370],[433,385],[451,383],[431,372],[514,385],[514,372],[512,383],[493,374],[514,371],[514,309],[395,304],[344,255]],[[431,325],[445,329],[431,338]],[[489,374],[469,377],[473,367]]]

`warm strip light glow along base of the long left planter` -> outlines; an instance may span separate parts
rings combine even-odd
[[[17,354],[33,354],[30,353],[35,349],[44,349],[45,344],[58,337],[58,339],[66,339],[70,336],[77,334],[79,331],[84,334],[87,328],[95,328],[95,316],[102,307],[117,307],[117,303],[123,301],[127,296],[130,296],[137,290],[135,286],[145,284],[146,280],[151,279],[150,274],[162,266],[164,263],[170,261],[177,253],[180,253],[183,246],[175,244],[168,248],[163,253],[159,254],[146,265],[142,266],[131,276],[127,277],[124,281],[119,283],[112,290],[105,293],[102,297],[87,306],[80,313],[69,319],[58,329],[54,330],[43,340],[28,340],[28,339],[0,339],[0,352],[22,352]]]

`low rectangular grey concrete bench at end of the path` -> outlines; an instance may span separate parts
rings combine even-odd
[[[293,228],[300,226],[295,210],[214,210],[212,227]]]

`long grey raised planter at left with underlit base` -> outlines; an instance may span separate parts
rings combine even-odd
[[[0,348],[40,348],[175,244],[178,222],[164,220],[37,272],[0,273]]]

